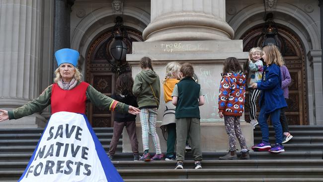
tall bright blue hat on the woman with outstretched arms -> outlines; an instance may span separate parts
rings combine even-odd
[[[58,66],[60,66],[63,63],[70,63],[74,67],[76,67],[78,65],[79,56],[79,52],[74,49],[64,48],[55,52],[55,57]]]

